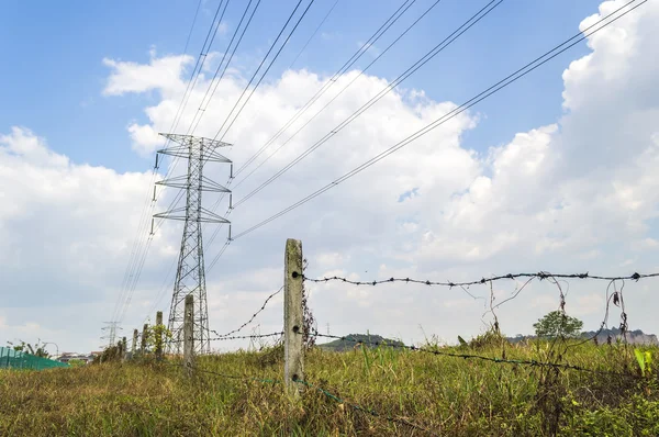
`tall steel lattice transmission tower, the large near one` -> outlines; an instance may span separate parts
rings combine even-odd
[[[230,195],[230,208],[232,200],[230,190],[203,176],[203,167],[209,161],[227,163],[231,164],[233,177],[232,161],[216,152],[217,148],[230,146],[230,144],[191,135],[160,135],[170,139],[175,145],[158,150],[158,154],[188,159],[188,172],[186,175],[156,182],[156,184],[186,190],[185,206],[172,208],[169,211],[154,215],[154,217],[185,222],[169,309],[167,328],[171,333],[171,339],[167,344],[167,351],[174,354],[181,351],[185,301],[187,295],[192,294],[194,298],[194,351],[197,354],[208,354],[210,352],[210,332],[201,224],[226,223],[230,225],[230,238],[231,224],[227,220],[202,206],[201,193],[203,191],[227,193]]]

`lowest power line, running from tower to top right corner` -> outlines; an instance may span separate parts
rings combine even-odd
[[[611,14],[606,15],[605,18],[599,20],[596,23],[592,24],[588,29],[583,30],[582,32],[579,32],[578,34],[576,34],[574,36],[568,38],[567,41],[565,41],[561,44],[559,44],[555,48],[552,48],[549,52],[545,53],[544,55],[537,57],[533,61],[526,64],[524,67],[522,67],[518,70],[516,70],[515,72],[509,75],[507,77],[505,77],[504,79],[502,79],[499,82],[494,83],[493,86],[491,86],[490,88],[485,89],[484,91],[481,91],[479,94],[477,94],[473,98],[469,99],[468,101],[466,101],[465,103],[462,103],[460,107],[454,109],[453,111],[448,112],[447,114],[443,115],[442,117],[435,120],[434,122],[429,123],[428,125],[426,125],[422,130],[420,130],[420,131],[415,132],[414,134],[407,136],[403,141],[394,144],[393,146],[391,146],[390,148],[386,149],[384,152],[376,155],[373,158],[367,160],[366,163],[361,164],[360,166],[356,167],[355,169],[348,171],[347,173],[345,173],[340,178],[338,178],[338,179],[334,180],[333,182],[326,184],[325,187],[321,188],[320,190],[317,190],[317,191],[309,194],[308,197],[303,198],[302,200],[293,203],[292,205],[286,208],[284,210],[280,211],[280,212],[278,212],[277,214],[275,214],[275,215],[272,215],[272,216],[264,220],[263,222],[260,222],[260,223],[252,226],[250,228],[246,229],[245,232],[239,233],[238,235],[234,236],[233,239],[237,239],[237,238],[239,238],[239,237],[242,237],[244,235],[247,235],[247,234],[256,231],[257,228],[259,228],[259,227],[261,227],[261,226],[270,223],[271,221],[273,221],[273,220],[276,220],[276,218],[278,218],[278,217],[280,217],[280,216],[289,213],[290,211],[297,209],[298,206],[300,206],[300,205],[309,202],[310,200],[317,198],[319,195],[323,194],[325,191],[327,191],[327,190],[336,187],[337,184],[346,181],[347,179],[351,178],[353,176],[355,176],[355,175],[364,171],[365,169],[367,169],[368,167],[372,166],[373,164],[380,161],[381,159],[383,159],[387,156],[393,154],[394,152],[399,150],[400,148],[406,146],[407,144],[412,143],[413,141],[415,141],[415,139],[420,138],[421,136],[427,134],[432,130],[434,130],[434,128],[438,127],[439,125],[446,123],[448,120],[457,116],[458,114],[462,113],[463,111],[468,110],[469,108],[473,107],[474,104],[479,103],[480,101],[487,99],[488,97],[492,96],[493,93],[500,91],[501,89],[507,87],[509,85],[513,83],[514,81],[516,81],[516,80],[521,79],[522,77],[526,76],[530,71],[535,70],[536,68],[538,68],[541,65],[546,64],[547,61],[551,60],[556,56],[558,56],[561,53],[566,52],[568,48],[574,46],[576,44],[578,44],[581,41],[585,40],[587,37],[589,37],[590,35],[594,34],[595,32],[599,32],[600,30],[604,29],[605,26],[607,26],[608,24],[613,23],[614,21],[623,18],[624,15],[626,15],[629,12],[632,12],[636,8],[638,8],[641,4],[646,3],[648,0],[641,1],[640,3],[638,3],[637,5],[635,5],[634,8],[629,9],[628,11],[624,12],[623,14],[614,18],[612,21],[610,21],[608,23],[605,23],[601,27],[597,27],[597,29],[593,30],[592,32],[585,33],[589,30],[593,29],[595,25],[602,23],[603,21],[607,20],[613,14],[617,13],[618,11],[621,11],[624,8],[627,8],[628,5],[630,5],[632,3],[636,2],[636,1],[637,0],[629,1],[628,3],[626,3],[625,5],[623,5],[622,8],[618,8],[616,11],[614,11]],[[580,35],[583,35],[583,36],[579,37]],[[571,44],[569,44],[571,41],[573,41],[576,38],[577,38],[577,41],[574,41]],[[560,47],[565,46],[566,44],[569,44],[569,45],[567,45],[566,47],[563,47],[559,52],[556,52],[557,49],[559,49]],[[554,52],[556,52],[556,53],[554,53]],[[549,56],[549,57],[547,57],[547,56]],[[534,65],[534,64],[538,63],[543,58],[546,58],[546,59],[544,59],[541,63],[539,63],[537,65]],[[530,66],[533,66],[533,67],[530,67]]]

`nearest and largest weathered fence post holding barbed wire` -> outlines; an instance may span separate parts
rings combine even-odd
[[[283,381],[289,393],[299,395],[302,385],[295,381],[304,379],[302,242],[287,239],[283,270]]]

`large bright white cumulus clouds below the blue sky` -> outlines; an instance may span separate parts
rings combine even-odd
[[[599,15],[621,4],[604,2]],[[463,113],[313,202],[235,240],[208,273],[211,327],[219,332],[236,327],[249,318],[269,292],[281,287],[287,237],[303,240],[311,276],[459,281],[515,270],[630,273],[630,268],[658,269],[652,255],[659,249],[655,222],[659,204],[659,133],[655,123],[659,90],[654,79],[659,67],[651,60],[659,51],[654,43],[659,32],[655,26],[658,15],[659,8],[648,3],[589,38],[591,53],[576,59],[563,72],[566,112],[559,120],[545,120],[528,132],[511,133],[507,144],[482,154],[461,146],[461,135],[478,128],[478,119]],[[581,29],[596,19],[587,18]],[[147,122],[129,127],[137,153],[153,153],[158,145],[155,133],[169,128],[186,89],[182,71],[190,60],[182,56],[153,56],[148,64],[104,60],[110,67],[105,94],[157,91],[159,96],[145,109]],[[241,184],[235,188],[234,201],[388,83],[379,77],[362,76],[289,141],[292,132],[357,74],[349,71],[338,78],[315,110],[273,142],[255,165],[284,141],[288,144],[254,176],[242,182],[252,167],[236,178],[234,186]],[[245,163],[326,80],[311,71],[295,70],[263,83],[228,133],[220,132],[219,137],[234,145],[224,150],[225,155],[236,166]],[[210,86],[209,78],[201,76],[181,126],[191,124]],[[244,86],[241,76],[219,82],[194,134],[215,136]],[[423,90],[389,93],[300,165],[236,208],[231,214],[234,235],[454,108],[454,102],[434,101]],[[0,211],[0,235],[12,247],[11,255],[4,256],[8,265],[14,265],[9,277],[15,282],[27,271],[21,269],[40,262],[57,266],[52,270],[82,271],[85,287],[98,290],[94,293],[116,293],[116,287],[110,291],[112,287],[99,283],[116,284],[116,278],[123,274],[124,264],[119,260],[125,261],[133,236],[126,229],[137,227],[149,176],[119,175],[71,164],[25,130],[14,128],[1,138],[0,182],[22,187],[11,194],[13,206]],[[182,167],[179,165],[177,171]],[[209,165],[204,171],[221,182],[227,177],[225,166]],[[108,187],[113,190],[110,195]],[[165,208],[174,194],[165,192],[158,208]],[[214,199],[205,200],[212,204]],[[32,243],[27,245],[21,243],[30,229],[27,225],[37,223],[35,211],[45,211],[45,205],[52,209],[47,232],[30,235]],[[206,242],[211,232],[206,232]],[[135,305],[126,315],[127,324],[137,326],[154,304],[166,267],[176,259],[179,233],[176,225],[166,225],[157,233],[156,255],[145,267]],[[37,249],[37,237],[40,244],[56,248],[53,250],[58,256]],[[223,239],[224,231],[217,242]],[[206,264],[217,253],[217,242],[206,244]],[[38,256],[31,259],[33,254]],[[626,265],[629,259],[635,262]],[[99,269],[100,265],[104,268]],[[58,271],[49,271],[48,278],[54,278],[48,283],[58,290],[75,283]],[[85,287],[77,293],[82,293]],[[495,300],[512,296],[518,287],[513,281],[499,284]],[[647,287],[628,284],[626,289],[638,290],[637,296],[626,299],[629,323],[633,328],[657,332],[654,314],[659,309],[648,300],[651,288]],[[599,325],[605,288],[585,281],[570,283],[568,312],[582,316],[587,328]],[[453,341],[458,334],[477,334],[484,326],[483,318],[490,320],[489,288],[444,290],[391,283],[356,289],[327,283],[310,284],[310,289],[319,323],[330,323],[334,334],[369,328],[413,341],[423,339],[421,325],[423,332],[438,333]],[[167,287],[164,290],[160,307],[168,302]],[[19,302],[16,299],[14,304]],[[271,305],[259,316],[261,332],[281,326],[280,300]],[[502,305],[498,315],[504,332],[525,333],[557,306],[556,287],[535,281],[516,300]],[[98,328],[91,325],[90,329]]]

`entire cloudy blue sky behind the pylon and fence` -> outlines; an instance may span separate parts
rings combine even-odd
[[[282,75],[334,1],[316,0],[267,83],[224,138],[235,145],[226,154],[236,165],[323,85],[315,75],[326,79],[334,74],[403,2],[339,0],[295,63],[295,69],[304,70]],[[220,83],[200,133],[212,136],[217,130],[295,2],[261,1],[232,63],[237,71]],[[416,0],[373,53],[433,2]],[[187,51],[192,57],[217,3],[203,1]],[[485,3],[442,0],[327,111],[287,139],[279,155],[245,184],[234,183],[234,204],[378,93],[382,78],[394,79]],[[5,1],[0,7],[0,246],[5,248],[0,250],[0,278],[8,284],[0,295],[9,289],[29,291],[2,296],[0,330],[8,338],[59,338],[67,349],[98,347],[100,321],[112,316],[126,291],[122,278],[145,193],[145,223],[175,195],[174,190],[158,191],[157,204],[148,202],[153,132],[171,124],[194,64],[178,75],[197,4]],[[231,1],[226,32],[211,52],[225,49],[245,4]],[[463,102],[572,36],[584,19],[622,4],[505,0],[402,85],[423,90],[427,100],[387,94],[245,208],[236,208],[231,215],[234,236],[444,115],[453,108],[447,102]],[[511,270],[659,270],[656,4],[647,2],[591,36],[590,45],[569,49],[354,179],[233,242],[206,274],[211,328],[235,328],[237,318],[254,314],[281,285],[288,237],[302,239],[312,276],[361,280],[459,281]],[[355,68],[371,59],[367,53]],[[351,77],[338,78],[335,89]],[[191,122],[208,79],[194,89],[186,122]],[[225,172],[209,167],[204,175],[224,182]],[[180,233],[180,223],[174,222],[156,231],[126,305],[126,328],[141,326],[153,307],[168,309],[171,287],[166,278],[174,273],[169,266],[177,259]],[[208,262],[220,253],[225,234],[223,228],[204,246]],[[651,282],[628,287],[634,293],[626,299],[629,326],[659,332]],[[506,283],[495,293],[503,298],[513,289]],[[557,295],[548,288],[525,290],[500,314],[507,334],[529,332],[537,318],[556,309]],[[604,293],[601,284],[573,283],[569,313],[595,328]],[[371,329],[415,341],[422,324],[427,333],[455,340],[484,326],[480,301],[460,290],[438,296],[424,288],[319,284],[311,302],[319,324],[330,322],[336,333]],[[280,328],[281,302],[272,304],[259,316],[264,332]],[[62,320],[77,322],[63,326]]]

